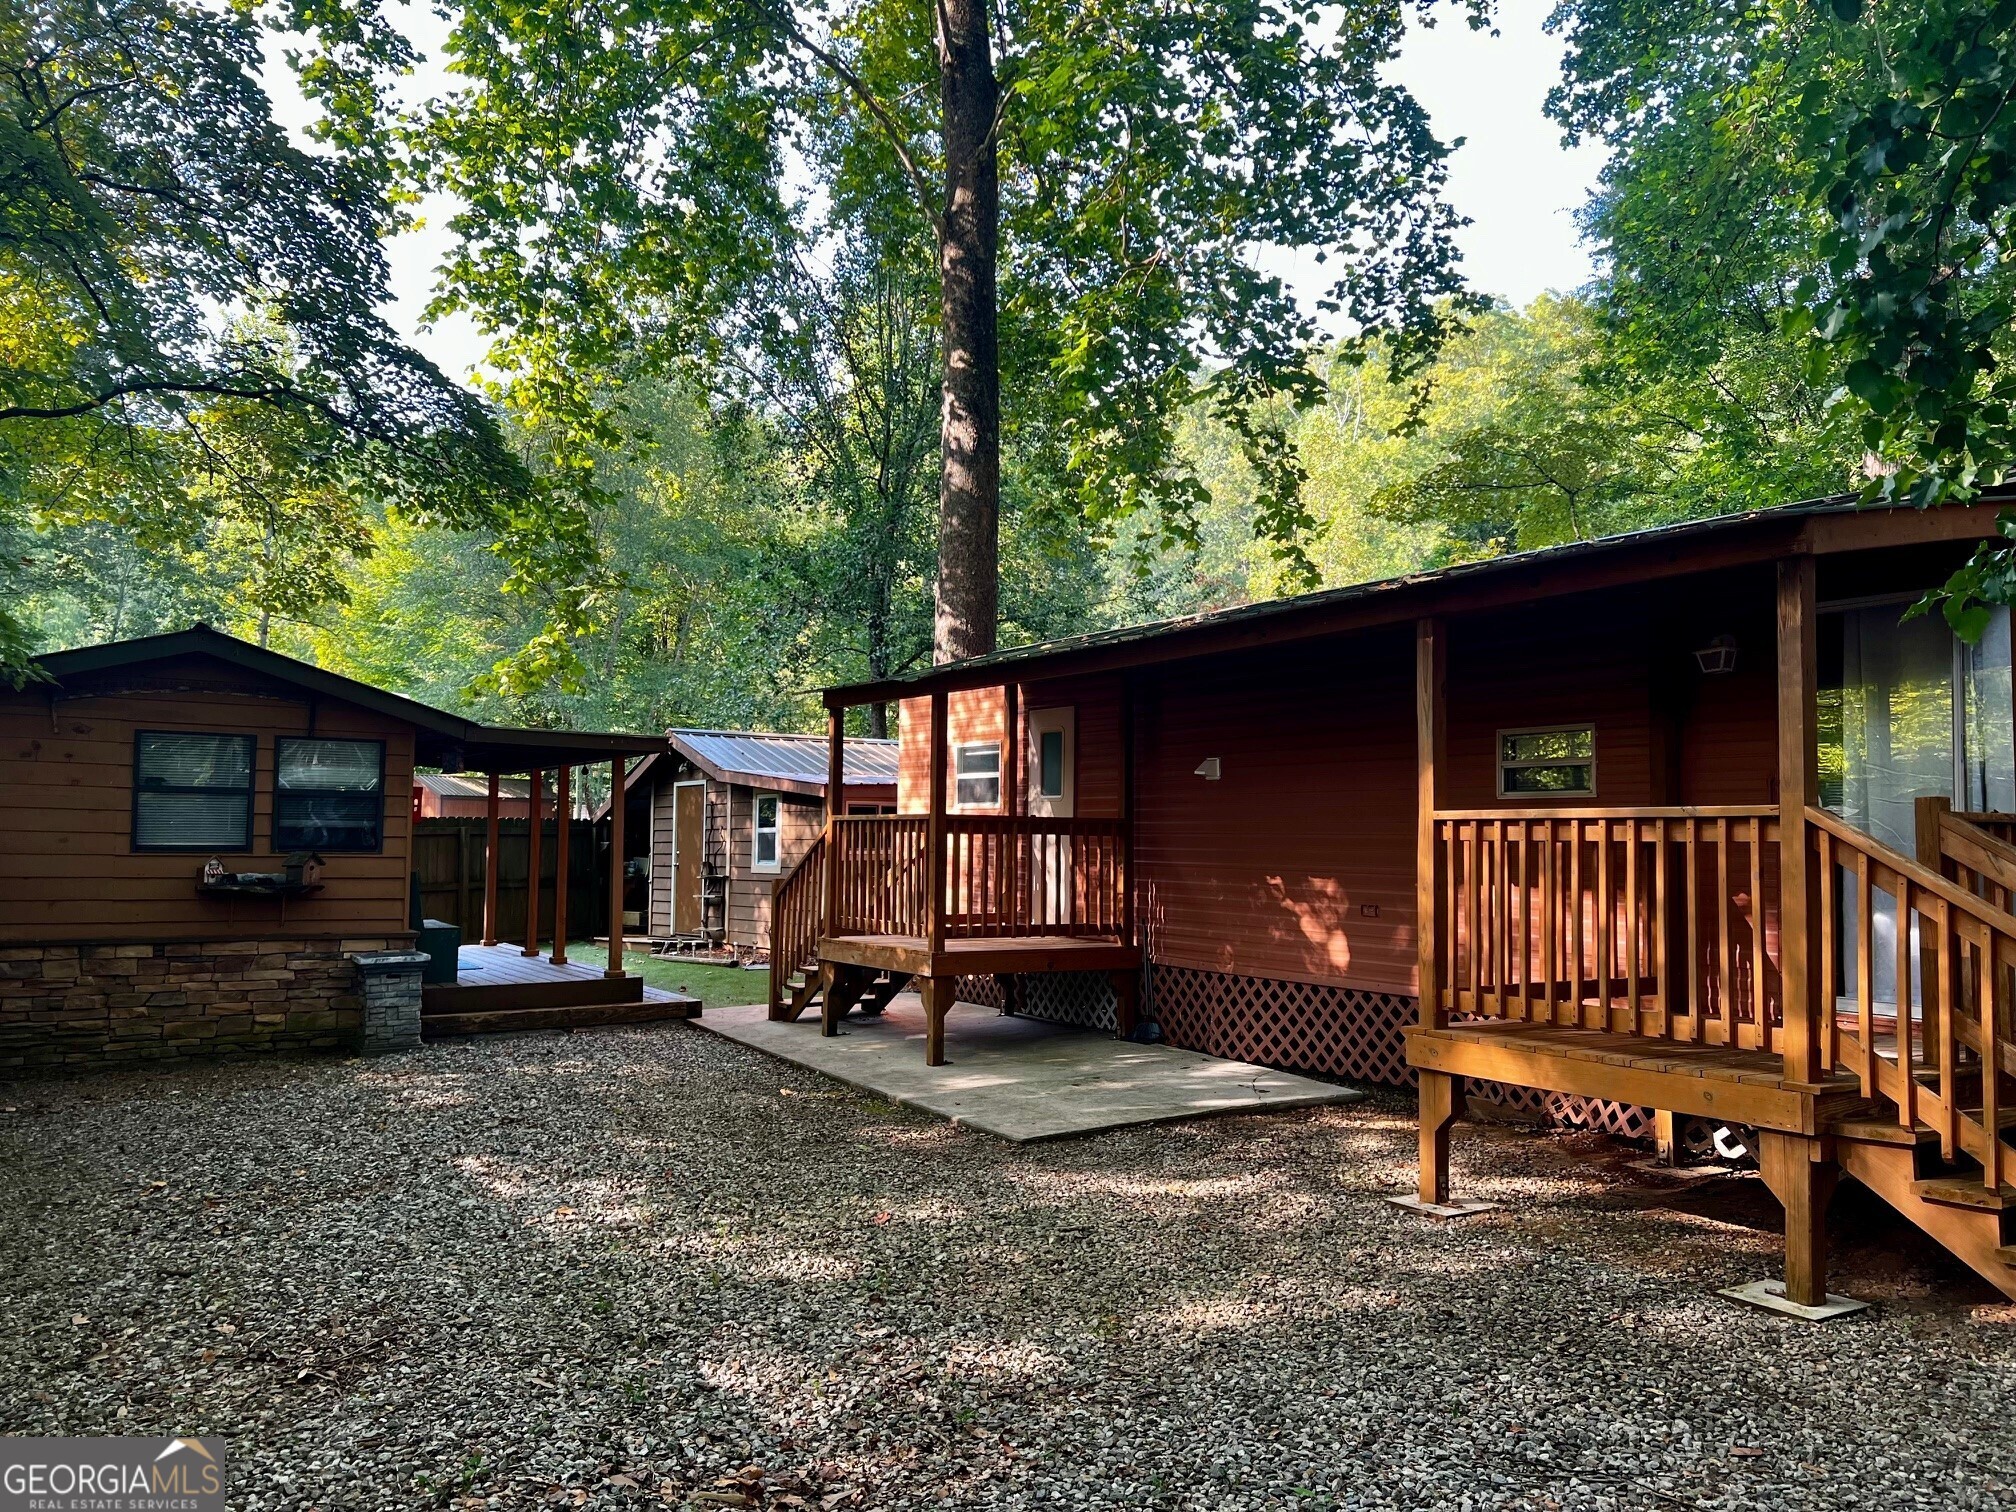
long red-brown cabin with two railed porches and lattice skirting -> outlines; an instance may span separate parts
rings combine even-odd
[[[915,980],[1421,1099],[1728,1125],[1824,1298],[1839,1173],[2016,1296],[2010,631],[1905,609],[1992,504],[1792,506],[950,663],[829,806],[772,1014]]]

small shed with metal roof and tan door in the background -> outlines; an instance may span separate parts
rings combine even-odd
[[[770,889],[827,823],[827,738],[667,730],[665,746],[631,774],[631,843],[649,857],[643,931],[663,943],[766,950]],[[845,812],[885,814],[895,800],[897,742],[849,740]]]

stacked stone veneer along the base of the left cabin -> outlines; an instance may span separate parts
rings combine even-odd
[[[351,954],[409,950],[401,937],[0,946],[0,1075],[363,1048]],[[415,1000],[417,982],[413,970]]]

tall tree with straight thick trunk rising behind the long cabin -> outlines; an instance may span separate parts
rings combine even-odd
[[[1151,508],[1187,538],[1175,425],[1202,389],[1254,464],[1258,530],[1300,562],[1270,401],[1320,393],[1318,314],[1383,331],[1405,373],[1458,288],[1445,149],[1383,77],[1413,8],[470,0],[468,87],[419,133],[462,202],[442,306],[496,333],[520,407],[607,439],[581,371],[712,367],[806,216],[893,181],[883,214],[935,248],[939,657],[994,645],[1004,435],[1054,446],[1097,524]],[[808,151],[839,117],[855,145]],[[1276,246],[1335,264],[1320,310],[1268,272]]]

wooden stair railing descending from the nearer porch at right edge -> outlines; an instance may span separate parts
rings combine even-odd
[[[1976,891],[1980,869],[1974,881],[1945,877],[1824,808],[1806,810],[1806,829],[1818,851],[1820,1002],[1841,1000],[1851,958],[1855,976],[1853,1012],[1824,1020],[1822,1064],[1857,1075],[1865,1097],[1895,1107],[1899,1127],[1935,1129],[1945,1159],[1972,1155],[1998,1187],[2016,1173],[2002,1129],[2002,1079],[2016,1077],[2016,917]],[[1972,855],[1970,867],[1994,859],[1941,825],[1941,855],[1947,847]],[[2006,883],[1994,885],[2006,903]],[[1847,937],[1837,939],[1837,919]],[[1891,1004],[1875,996],[1883,948],[1895,958]]]

